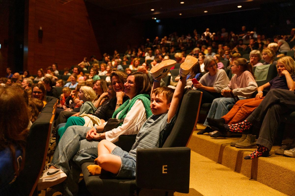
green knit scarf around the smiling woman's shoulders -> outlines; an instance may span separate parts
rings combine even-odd
[[[150,110],[150,96],[147,94],[139,94],[132,98],[130,101],[127,100],[123,105],[121,105],[113,114],[112,118],[116,118],[116,115],[122,111],[118,117],[118,119],[123,119],[126,117],[127,113],[130,111],[132,106],[134,105],[135,101],[140,99],[145,107],[145,113],[147,118],[152,115],[152,111]]]

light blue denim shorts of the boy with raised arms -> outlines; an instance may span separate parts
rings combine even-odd
[[[111,154],[119,156],[121,158],[121,168],[117,175],[117,178],[135,179],[136,174],[136,158],[129,155],[128,152],[122,150],[119,146],[116,146]]]

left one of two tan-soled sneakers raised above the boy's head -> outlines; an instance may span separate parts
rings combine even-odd
[[[170,68],[176,64],[174,60],[165,60],[159,63],[158,65],[154,66],[150,70],[150,75],[153,76],[155,80],[160,80],[160,78],[164,78],[170,71]]]

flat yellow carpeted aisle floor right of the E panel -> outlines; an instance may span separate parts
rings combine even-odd
[[[194,151],[189,184],[188,194],[175,192],[174,196],[286,196]]]

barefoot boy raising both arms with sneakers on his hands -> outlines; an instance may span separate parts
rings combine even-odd
[[[179,75],[181,77],[175,91],[168,87],[159,86],[161,78],[167,75],[176,61],[166,60],[151,69],[150,73],[154,78],[154,83],[150,108],[153,115],[140,128],[129,153],[107,140],[99,142],[98,157],[94,161],[96,165],[87,167],[91,175],[100,175],[102,172],[108,171],[115,177],[135,178],[136,150],[160,148],[163,145],[176,120],[177,108],[186,85],[185,76],[189,74],[197,62],[198,60],[192,56],[186,57],[180,66]]]

